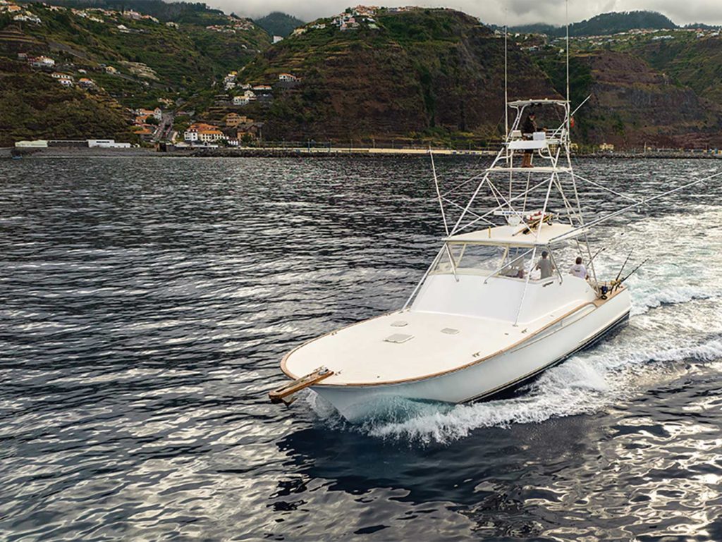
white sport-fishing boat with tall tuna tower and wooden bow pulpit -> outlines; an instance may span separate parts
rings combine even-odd
[[[351,421],[389,399],[474,401],[523,383],[627,320],[622,279],[597,279],[594,269],[570,157],[569,101],[508,107],[513,122],[490,167],[444,194],[435,183],[447,235],[404,307],[290,351],[281,368],[294,382],[271,399],[310,387]],[[556,110],[559,126],[523,134],[529,110],[543,108]],[[531,153],[537,163],[521,163],[520,154]],[[450,198],[463,185],[473,188],[466,206]],[[490,198],[491,209],[472,210]],[[563,211],[552,211],[552,201]],[[461,211],[453,227],[445,204]],[[588,263],[581,276],[568,271],[577,255]]]

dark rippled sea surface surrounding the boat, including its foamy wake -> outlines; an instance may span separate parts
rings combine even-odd
[[[577,167],[651,196],[722,161]],[[597,230],[601,271],[653,257],[609,340],[351,426],[266,393],[285,351],[403,305],[442,234],[427,159],[0,162],[0,539],[720,541],[721,186]]]

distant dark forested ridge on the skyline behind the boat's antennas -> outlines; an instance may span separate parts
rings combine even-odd
[[[627,32],[634,28],[663,30],[677,28],[669,17],[657,12],[613,12],[603,13],[580,22],[569,25],[570,36],[613,35],[617,32]],[[539,33],[549,36],[566,35],[566,28],[562,25],[547,24],[521,25],[509,27],[510,32],[522,34]]]

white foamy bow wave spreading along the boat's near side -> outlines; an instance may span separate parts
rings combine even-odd
[[[315,393],[309,395],[309,403],[317,416],[337,429],[383,439],[444,444],[467,437],[475,429],[593,414],[632,398],[640,388],[679,377],[678,367],[659,362],[683,359],[710,362],[722,358],[719,337],[702,344],[657,351],[625,348],[620,344],[622,341],[615,342],[554,367],[508,399],[464,405],[396,400],[393,405],[380,405],[378,416],[360,425],[344,421]]]

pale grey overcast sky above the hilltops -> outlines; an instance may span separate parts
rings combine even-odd
[[[225,12],[235,12],[245,17],[262,17],[269,12],[285,12],[305,21],[318,17],[329,17],[342,12],[348,6],[360,4],[360,0],[205,0],[209,6],[219,7]],[[434,1],[367,1],[365,5],[381,6],[432,6],[451,7],[481,17],[482,21],[503,25],[505,5],[508,10],[508,24],[549,22],[562,25],[565,21],[564,0],[448,0]],[[606,12],[651,9],[664,13],[678,25],[688,22],[722,24],[722,0],[569,0],[571,22],[588,19]]]

